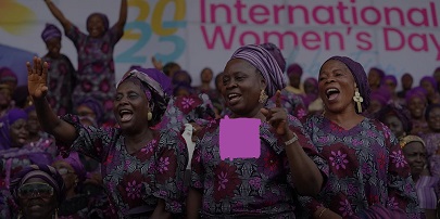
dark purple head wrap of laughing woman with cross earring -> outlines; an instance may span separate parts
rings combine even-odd
[[[369,106],[369,99],[370,99],[370,89],[367,80],[367,76],[365,73],[364,67],[359,62],[353,61],[350,57],[347,56],[332,56],[329,60],[337,60],[339,62],[342,62],[343,64],[347,65],[347,67],[350,69],[351,74],[354,77],[354,81],[357,85],[359,92],[361,93],[361,96],[364,99],[364,102],[362,102],[362,110],[366,111]],[[327,62],[326,61],[326,62]],[[320,70],[319,70],[320,72]]]

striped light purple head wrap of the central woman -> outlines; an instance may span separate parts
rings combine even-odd
[[[273,46],[275,47],[275,46]],[[286,87],[286,80],[274,55],[262,46],[248,44],[239,48],[230,57],[242,59],[260,70],[266,80],[266,92],[272,98],[277,90],[282,90]]]

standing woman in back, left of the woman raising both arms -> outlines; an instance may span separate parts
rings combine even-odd
[[[64,116],[72,113],[72,92],[75,88],[75,68],[71,60],[60,53],[61,30],[53,24],[46,24],[41,33],[42,41],[46,43],[48,53],[42,57],[49,63],[49,86],[50,93],[48,101],[56,115]]]

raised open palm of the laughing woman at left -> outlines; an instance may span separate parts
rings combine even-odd
[[[34,57],[34,65],[29,62],[27,66],[27,89],[33,99],[45,98],[48,93],[47,78],[49,64],[40,57]]]

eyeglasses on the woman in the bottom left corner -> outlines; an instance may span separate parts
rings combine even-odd
[[[20,198],[43,197],[49,198],[53,195],[53,188],[48,183],[33,182],[18,188]]]

